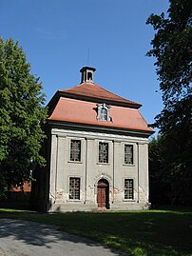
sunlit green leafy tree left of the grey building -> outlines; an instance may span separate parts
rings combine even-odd
[[[39,78],[18,42],[0,38],[0,190],[23,186],[35,165],[44,165],[39,154],[47,118],[45,95]]]

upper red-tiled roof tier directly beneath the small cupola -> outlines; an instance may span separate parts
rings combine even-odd
[[[120,106],[132,106],[132,108],[140,108],[142,105],[135,103],[133,101],[126,100],[123,97],[120,97],[106,89],[101,88],[96,84],[91,83],[82,83],[71,89],[60,89],[64,95],[69,96],[80,96],[79,98],[89,98],[89,99],[102,99],[111,104],[120,105]]]

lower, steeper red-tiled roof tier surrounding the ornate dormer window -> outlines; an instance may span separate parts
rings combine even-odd
[[[95,85],[93,86],[95,87]],[[73,89],[68,90],[73,91]],[[112,94],[108,93],[108,95]],[[98,121],[96,109],[97,105],[94,102],[60,97],[48,120],[153,132],[152,128],[147,126],[144,117],[137,108],[111,106],[109,110],[111,122]]]

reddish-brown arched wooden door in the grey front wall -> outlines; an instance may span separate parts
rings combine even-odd
[[[109,208],[109,185],[106,179],[101,179],[97,186],[97,204],[101,208]]]

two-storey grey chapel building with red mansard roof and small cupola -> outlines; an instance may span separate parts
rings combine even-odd
[[[58,90],[48,103],[43,146],[47,166],[36,169],[33,202],[45,211],[144,209],[148,202],[148,137],[142,105],[94,82]]]

